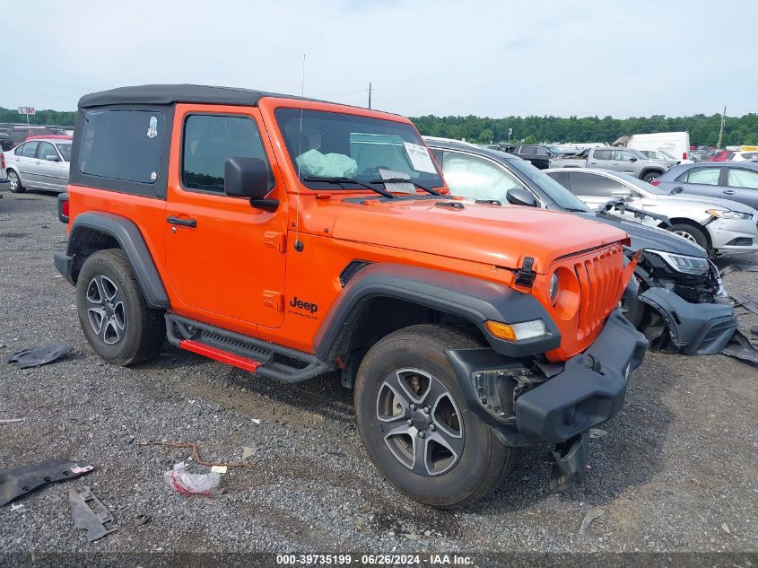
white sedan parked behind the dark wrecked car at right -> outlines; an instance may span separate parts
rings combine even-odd
[[[676,234],[699,244],[711,257],[758,251],[758,211],[747,205],[718,197],[672,195],[616,171],[544,171],[587,205],[622,199],[639,209],[666,215]]]

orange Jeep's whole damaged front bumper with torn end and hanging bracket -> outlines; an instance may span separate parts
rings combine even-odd
[[[557,485],[565,485],[583,472],[589,428],[621,410],[629,376],[647,347],[645,337],[616,309],[584,353],[561,365],[538,365],[539,376],[491,349],[446,354],[469,407],[503,443],[557,444],[556,464],[564,466]]]

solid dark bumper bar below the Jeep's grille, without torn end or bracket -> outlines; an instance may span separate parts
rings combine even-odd
[[[518,432],[536,443],[559,443],[607,422],[621,410],[629,375],[647,347],[644,336],[614,310],[587,351],[516,400]]]

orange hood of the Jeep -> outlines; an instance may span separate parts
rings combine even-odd
[[[442,205],[450,203],[462,206]],[[365,205],[345,205],[340,205],[335,220],[335,239],[505,268],[519,268],[524,258],[531,257],[538,273],[544,273],[555,258],[626,238],[606,224],[535,207],[449,199],[369,200]]]

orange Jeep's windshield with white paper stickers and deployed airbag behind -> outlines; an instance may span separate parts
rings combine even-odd
[[[409,124],[323,110],[276,109],[275,116],[301,179],[318,176],[370,183],[407,176],[427,188],[444,185],[421,136]],[[304,183],[324,188],[323,182]]]

